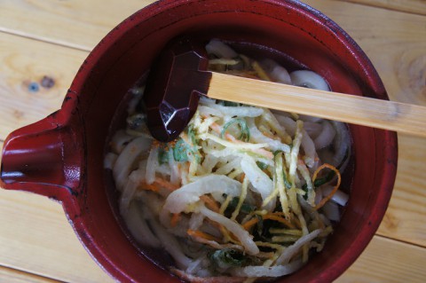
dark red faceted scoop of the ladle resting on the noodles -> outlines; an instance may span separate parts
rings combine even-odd
[[[146,125],[151,135],[170,142],[185,130],[209,89],[209,58],[202,43],[172,40],[154,60],[144,91]]]

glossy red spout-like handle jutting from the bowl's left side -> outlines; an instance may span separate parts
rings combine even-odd
[[[60,124],[57,114],[15,130],[6,138],[0,170],[4,189],[38,193],[59,201],[75,200],[83,150],[76,133],[67,124]]]

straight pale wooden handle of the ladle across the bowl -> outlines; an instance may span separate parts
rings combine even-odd
[[[426,138],[426,107],[212,72],[209,98]]]

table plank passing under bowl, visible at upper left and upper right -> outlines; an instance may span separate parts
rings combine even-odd
[[[118,22],[152,2],[5,0],[0,2],[0,30],[90,51]],[[304,2],[327,14],[359,43],[382,76],[390,98],[426,105],[426,17],[344,1]]]

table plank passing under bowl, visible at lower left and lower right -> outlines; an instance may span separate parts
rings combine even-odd
[[[58,203],[0,190],[0,223],[1,265],[67,282],[113,282],[84,251]],[[375,236],[337,282],[420,283],[425,260],[426,248]]]

